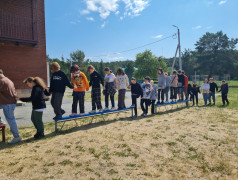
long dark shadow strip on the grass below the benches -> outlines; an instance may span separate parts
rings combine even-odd
[[[163,114],[167,114],[167,113],[174,113],[174,112],[178,112],[178,111],[181,111],[183,109],[188,109],[188,108],[190,108],[190,107],[185,106],[185,107],[178,107],[176,109],[170,109],[170,110],[166,109],[163,112],[157,112],[156,114],[148,115],[147,117],[159,116],[159,115],[163,115]],[[38,142],[38,141],[42,141],[42,143],[44,143],[44,140],[54,138],[55,136],[58,136],[58,135],[65,135],[65,134],[75,133],[75,132],[78,132],[78,131],[86,131],[86,130],[97,128],[97,127],[100,127],[100,126],[106,126],[106,125],[115,123],[117,121],[133,122],[133,121],[141,120],[143,118],[144,117],[141,117],[141,116],[140,117],[134,117],[134,118],[131,118],[131,117],[123,117],[123,118],[119,118],[119,119],[114,118],[113,120],[98,121],[98,122],[94,122],[94,123],[83,124],[81,126],[76,126],[76,127],[69,128],[69,129],[66,129],[66,130],[61,130],[59,132],[51,132],[49,134],[46,134],[44,138],[38,139],[38,140],[35,140],[33,137],[31,137],[31,138],[28,138],[28,139],[24,139],[21,142],[16,143],[16,144],[7,144],[7,143],[1,142],[0,143],[0,150],[13,148],[13,147],[16,147],[16,146],[21,146],[21,145],[24,145],[24,144]],[[49,123],[49,124],[50,124],[51,128],[54,126],[54,123]]]

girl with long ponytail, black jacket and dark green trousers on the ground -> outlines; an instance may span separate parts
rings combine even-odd
[[[28,77],[24,80],[24,83],[29,88],[32,88],[31,96],[28,98],[20,98],[20,100],[23,102],[32,102],[31,121],[37,130],[34,138],[39,139],[44,137],[44,125],[42,121],[43,112],[46,110],[44,94],[47,96],[50,94],[46,90],[44,81],[39,77]]]

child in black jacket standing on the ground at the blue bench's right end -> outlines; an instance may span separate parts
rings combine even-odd
[[[131,85],[129,86],[131,89],[131,99],[132,99],[132,105],[131,107],[134,107],[135,110],[135,117],[137,117],[137,98],[140,96],[143,96],[143,90],[141,88],[141,85],[136,82],[136,78],[131,78]]]

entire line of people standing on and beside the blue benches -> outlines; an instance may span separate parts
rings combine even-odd
[[[17,143],[21,141],[19,136],[16,120],[14,117],[14,109],[17,100],[23,102],[32,102],[32,114],[31,120],[34,124],[37,132],[34,135],[35,139],[44,137],[44,125],[42,121],[43,112],[46,110],[46,103],[44,96],[51,96],[51,105],[54,109],[54,120],[61,119],[65,114],[62,109],[62,101],[66,86],[73,89],[73,103],[71,117],[84,115],[84,99],[85,92],[89,91],[91,86],[91,100],[92,110],[91,114],[104,111],[115,110],[114,96],[118,91],[118,109],[124,109],[125,106],[125,94],[127,89],[131,89],[132,106],[134,108],[135,116],[137,116],[137,99],[141,97],[140,105],[143,111],[142,116],[145,117],[148,114],[148,107],[151,105],[151,114],[155,113],[155,103],[163,104],[169,102],[182,101],[184,99],[193,101],[193,105],[198,106],[198,93],[203,94],[204,103],[207,105],[207,101],[211,104],[211,98],[215,104],[215,91],[218,91],[218,87],[213,79],[210,78],[210,82],[207,79],[201,87],[197,85],[196,81],[193,84],[189,84],[188,77],[184,71],[173,71],[171,76],[163,72],[162,68],[158,70],[158,85],[155,85],[154,81],[150,77],[145,77],[144,82],[139,84],[136,78],[131,78],[131,83],[122,68],[118,68],[116,74],[114,74],[110,68],[104,69],[105,77],[103,78],[96,69],[90,65],[87,68],[87,72],[90,73],[90,81],[88,81],[86,75],[80,71],[80,66],[73,65],[70,68],[71,82],[63,71],[60,70],[60,65],[57,62],[51,64],[50,70],[52,72],[50,80],[50,88],[48,89],[44,81],[40,77],[28,77],[23,83],[29,88],[32,88],[31,96],[28,98],[18,98],[13,82],[4,76],[3,71],[0,70],[0,108],[3,109],[5,118],[10,126],[10,130],[14,136],[10,143]],[[103,87],[103,94],[105,96],[105,108],[102,108],[101,103],[101,86]],[[227,99],[228,84],[222,81],[220,91],[222,92],[223,105],[225,102],[229,104]],[[177,99],[178,96],[178,99]],[[111,101],[111,108],[109,109],[109,97]],[[165,100],[165,101],[164,101]],[[77,111],[79,104],[79,113]],[[0,117],[0,123],[2,119]]]

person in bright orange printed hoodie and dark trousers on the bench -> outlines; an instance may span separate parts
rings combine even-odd
[[[73,73],[71,81],[74,86],[73,90],[73,104],[72,104],[72,114],[70,116],[77,115],[77,105],[79,102],[80,116],[84,115],[84,96],[85,90],[89,90],[88,79],[83,72],[79,70],[78,65],[73,65],[70,68],[70,72]]]

